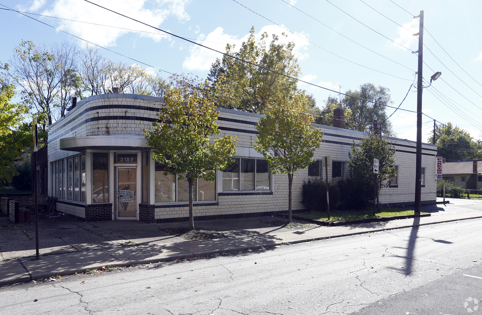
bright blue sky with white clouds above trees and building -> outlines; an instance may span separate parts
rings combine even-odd
[[[175,34],[205,40],[202,41],[204,45],[222,51],[227,42],[239,45],[251,26],[255,27],[256,33],[285,32],[288,34],[286,40],[293,40],[296,43],[296,54],[299,55],[299,65],[303,72],[301,78],[336,91],[339,89],[338,85],[341,85],[342,92],[357,89],[365,82],[382,85],[390,89],[394,106],[402,102],[415,78],[417,57],[411,51],[417,50],[418,39],[412,34],[418,32],[418,21],[389,0],[330,0],[345,13],[327,0],[285,1],[394,62],[342,37],[282,0],[237,1],[272,22],[233,0],[93,0]],[[457,66],[435,40],[425,33],[424,43],[440,61],[425,49],[424,61],[433,71],[424,65],[423,77],[429,79],[433,72],[441,71],[441,79],[444,81],[439,79],[433,83],[432,86],[437,90],[424,89],[423,112],[439,121],[457,124],[469,131],[473,137],[480,138],[482,96],[478,94],[482,95],[482,2],[393,1],[415,15],[424,10],[425,27],[463,68],[462,70]],[[152,28],[108,13],[83,0],[4,0],[0,3],[31,13],[158,33]],[[374,9],[408,30],[375,12]],[[347,13],[388,39],[363,26]],[[22,39],[32,40],[37,44],[51,44],[63,40],[84,44],[79,39],[18,13],[1,10],[0,14],[0,27],[4,30],[0,45],[0,61],[8,61],[13,48]],[[216,57],[220,57],[215,52],[194,47],[182,39],[52,18],[39,19],[80,38],[173,73],[192,72],[205,78],[211,63]],[[275,23],[284,28],[276,26]],[[112,52],[103,53],[113,60],[134,63]],[[162,74],[165,77],[169,76],[166,73]],[[335,95],[333,92],[304,83],[300,83],[299,87],[312,92],[320,106],[329,94]],[[412,88],[412,91],[415,91],[415,88]],[[445,104],[432,93],[438,95],[437,97]],[[401,108],[416,109],[416,92],[408,93]],[[388,109],[387,112],[391,114],[392,109]],[[415,140],[415,113],[399,110],[391,120],[394,131],[400,138]],[[424,117],[423,122],[426,123],[423,131],[423,139],[426,141],[428,133],[433,128],[433,121]]]

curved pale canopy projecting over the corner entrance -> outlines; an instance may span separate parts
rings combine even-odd
[[[141,150],[148,148],[144,135],[103,134],[60,139],[60,149],[81,152],[91,150]]]

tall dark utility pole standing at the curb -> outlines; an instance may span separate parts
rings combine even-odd
[[[415,158],[415,215],[420,215],[422,197],[422,63],[423,63],[423,10],[420,11],[418,28],[418,72],[417,72],[417,145]]]

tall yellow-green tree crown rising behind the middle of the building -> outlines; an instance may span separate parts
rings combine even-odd
[[[267,33],[256,43],[253,26],[239,52],[228,44],[226,53],[297,78],[301,72],[294,48],[295,43],[281,43],[274,34],[269,41]],[[263,113],[267,103],[289,97],[297,90],[295,79],[227,56],[213,63],[208,79],[213,83],[211,98],[216,105],[252,113]]]

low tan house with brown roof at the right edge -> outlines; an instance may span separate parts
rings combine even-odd
[[[464,189],[482,189],[482,159],[445,162],[443,159],[442,177]]]

